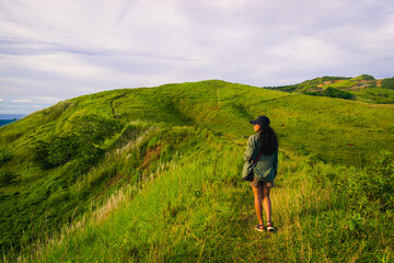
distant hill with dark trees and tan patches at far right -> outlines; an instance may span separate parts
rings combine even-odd
[[[326,76],[306,80],[299,84],[271,87],[268,89],[367,103],[394,103],[394,78],[376,80],[370,75],[361,75],[356,78]]]

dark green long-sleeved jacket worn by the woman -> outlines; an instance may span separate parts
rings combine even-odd
[[[259,155],[259,147],[258,147],[258,134],[252,135],[247,140],[247,148],[244,155],[244,160],[248,163],[253,163],[255,159]],[[256,170],[264,175],[265,182],[274,181],[277,174],[278,168],[278,149],[270,155],[264,156],[262,155],[256,163]]]

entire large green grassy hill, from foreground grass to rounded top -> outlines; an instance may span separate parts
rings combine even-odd
[[[281,147],[277,236],[248,231],[240,180],[263,114]],[[392,259],[393,121],[393,105],[218,80],[63,101],[0,128],[4,259],[239,261],[265,241],[268,261]]]

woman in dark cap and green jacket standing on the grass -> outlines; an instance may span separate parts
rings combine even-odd
[[[254,179],[251,182],[253,188],[255,209],[258,225],[254,227],[257,231],[264,231],[263,207],[267,216],[267,230],[275,231],[271,222],[271,202],[269,198],[270,188],[274,187],[274,179],[277,173],[278,165],[278,139],[271,127],[269,127],[269,118],[259,116],[254,121],[250,121],[254,125],[254,132],[247,140],[247,149],[244,156],[245,161],[254,162],[257,160],[254,172]]]

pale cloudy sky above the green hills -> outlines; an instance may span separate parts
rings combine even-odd
[[[393,0],[0,0],[0,113],[112,89],[393,69]]]

